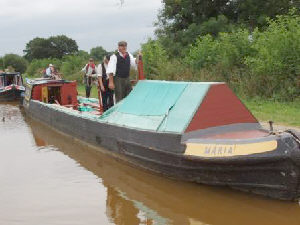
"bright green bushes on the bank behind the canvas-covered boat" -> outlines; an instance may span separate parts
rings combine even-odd
[[[295,10],[268,20],[265,30],[238,29],[198,36],[189,45],[185,57],[163,61],[167,52],[158,41],[146,43],[147,71],[156,79],[225,81],[240,96],[294,101],[300,98],[300,16]],[[155,64],[155,59],[158,62]]]

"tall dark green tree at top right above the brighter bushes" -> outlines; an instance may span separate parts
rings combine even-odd
[[[263,28],[267,17],[286,14],[298,7],[294,0],[162,0],[156,23],[156,36],[169,54],[185,53],[182,48],[199,35],[232,31],[236,26]]]

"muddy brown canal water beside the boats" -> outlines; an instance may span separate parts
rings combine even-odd
[[[15,105],[1,104],[0,119],[0,225],[300,224],[299,203],[141,171]]]

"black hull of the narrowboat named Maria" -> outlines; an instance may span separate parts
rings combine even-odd
[[[229,186],[282,200],[300,197],[300,150],[290,135],[278,139],[275,151],[249,156],[204,159],[185,156],[181,135],[159,134],[99,123],[66,114],[39,102],[25,112],[60,132],[108,152],[135,166],[180,180]]]

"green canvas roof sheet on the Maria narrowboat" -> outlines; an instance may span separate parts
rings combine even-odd
[[[183,133],[211,82],[139,81],[100,120],[129,128]]]

